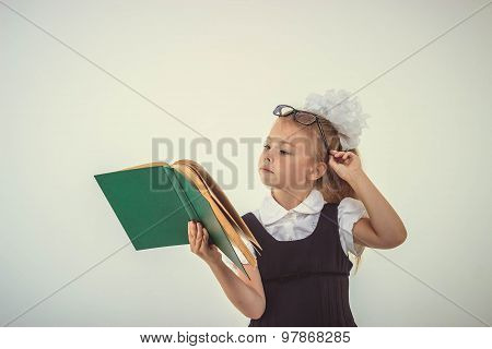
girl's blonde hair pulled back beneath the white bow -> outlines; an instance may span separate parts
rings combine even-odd
[[[293,122],[292,116],[288,116]],[[326,136],[326,141],[328,143],[328,146],[330,149],[341,151],[341,143],[340,143],[340,135],[337,129],[332,125],[332,123],[324,118],[319,119],[319,122],[321,124],[323,131]],[[341,179],[337,172],[328,165],[328,155],[326,155],[325,144],[323,142],[323,136],[319,133],[318,125],[315,123],[312,123],[311,125],[301,125],[297,123],[301,128],[305,129],[307,132],[311,132],[313,135],[315,135],[317,147],[315,151],[315,160],[324,161],[324,158],[326,157],[326,164],[328,166],[327,171],[323,177],[316,180],[315,182],[315,189],[318,189],[323,197],[328,203],[340,203],[342,198],[344,197],[353,197],[356,200],[360,200],[359,196],[355,194],[355,191],[352,189],[352,186]],[[359,157],[360,151],[356,148],[349,149],[350,152],[356,154]],[[362,159],[361,159],[362,161]],[[349,253],[349,255],[351,255]],[[355,258],[355,273],[359,270],[359,265],[362,261],[362,255],[353,255]]]

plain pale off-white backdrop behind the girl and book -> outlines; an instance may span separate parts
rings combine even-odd
[[[431,43],[483,3],[2,0],[1,323],[246,326],[188,245],[112,255],[128,240],[93,176],[152,160],[153,137],[185,139],[188,157],[202,134],[198,160],[225,183],[221,139],[266,136],[277,104],[364,86],[363,165],[409,236],[366,249],[359,326],[492,323],[492,7]],[[260,151],[229,156],[242,214],[266,193],[248,165]]]

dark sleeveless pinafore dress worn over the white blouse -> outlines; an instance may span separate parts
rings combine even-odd
[[[262,248],[257,262],[267,300],[265,313],[248,327],[356,327],[338,204],[325,204],[315,230],[301,240],[277,240],[250,212],[242,218]]]

